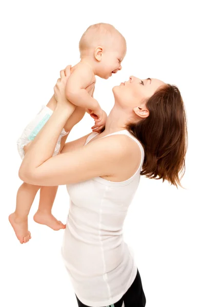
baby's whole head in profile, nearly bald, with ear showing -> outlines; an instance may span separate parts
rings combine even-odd
[[[90,26],[79,41],[81,60],[89,58],[94,72],[100,78],[108,79],[121,70],[121,61],[127,51],[126,40],[112,25]]]

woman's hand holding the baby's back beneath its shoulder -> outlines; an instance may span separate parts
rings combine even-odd
[[[66,69],[60,71],[60,78],[54,86],[54,95],[58,105],[75,105],[66,98],[66,83],[71,74],[71,65],[68,65]]]

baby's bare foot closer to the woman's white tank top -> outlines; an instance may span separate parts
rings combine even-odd
[[[56,218],[51,213],[37,211],[33,216],[33,220],[42,225],[46,225],[53,230],[65,229],[66,225],[56,220]]]

